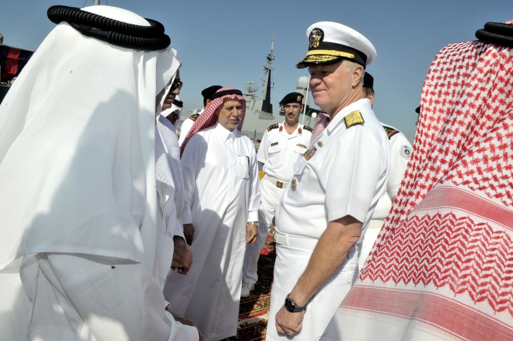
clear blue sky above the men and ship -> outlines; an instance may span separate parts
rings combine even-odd
[[[4,44],[35,49],[55,25],[46,16],[52,5],[84,7],[92,0],[4,0],[0,33]],[[202,107],[201,90],[213,84],[242,89],[261,86],[265,56],[276,36],[271,101],[274,110],[297,80],[308,75],[295,68],[307,50],[305,32],[319,21],[356,29],[376,47],[368,66],[374,77],[378,118],[415,136],[415,108],[431,61],[445,45],[475,40],[488,21],[513,18],[511,0],[430,1],[172,1],[101,0],[160,21],[182,60],[185,111]],[[186,112],[185,112],[186,113]],[[184,115],[184,113],[182,114]],[[187,115],[187,113],[186,113]]]

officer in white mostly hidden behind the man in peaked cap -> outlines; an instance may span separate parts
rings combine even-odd
[[[368,72],[365,72],[363,92],[365,93],[365,97],[369,99],[370,105],[374,104],[374,78]],[[393,199],[397,196],[411,155],[411,144],[401,131],[388,124],[383,124],[383,128],[385,129],[388,142],[390,143],[390,173],[386,184],[386,191],[383,192],[378,201],[376,210],[374,210],[374,214],[370,220],[369,228],[365,233],[365,238],[361,247],[358,248],[360,253],[358,255],[358,268],[360,268],[360,271],[363,269],[365,260],[390,212]]]

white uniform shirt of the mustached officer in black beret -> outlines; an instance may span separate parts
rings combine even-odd
[[[264,163],[262,170],[265,174],[290,181],[294,175],[294,162],[305,153],[312,133],[308,127],[305,129],[304,125],[298,124],[289,135],[283,125],[284,122],[267,128],[260,142],[257,159]]]

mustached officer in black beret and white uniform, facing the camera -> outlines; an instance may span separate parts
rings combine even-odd
[[[280,101],[285,121],[269,126],[264,132],[257,153],[265,175],[260,182],[259,237],[248,244],[244,257],[241,297],[248,297],[257,282],[260,251],[271,229],[276,206],[294,175],[293,165],[310,144],[312,128],[299,123],[303,112],[303,94],[291,92]]]

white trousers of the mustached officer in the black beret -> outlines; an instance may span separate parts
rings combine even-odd
[[[271,230],[272,219],[276,212],[276,207],[285,193],[288,182],[283,187],[277,187],[276,179],[265,175],[260,181],[260,207],[258,211],[258,238],[252,244],[246,245],[246,254],[244,255],[244,268],[242,279],[246,283],[254,284],[258,280],[257,263],[260,252],[264,247],[269,231]]]

